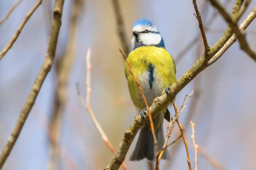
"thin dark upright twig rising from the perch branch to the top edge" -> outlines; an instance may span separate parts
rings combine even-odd
[[[193,5],[194,5],[194,8],[195,8],[196,18],[198,19],[199,28],[200,28],[202,38],[203,38],[203,41],[204,41],[204,51],[205,51],[205,54],[207,54],[207,52],[210,50],[210,47],[209,47],[208,42],[207,42],[207,38],[206,38],[206,35],[205,35],[205,31],[204,31],[203,21],[202,21],[202,18],[201,18],[201,14],[198,10],[196,0],[193,0]]]

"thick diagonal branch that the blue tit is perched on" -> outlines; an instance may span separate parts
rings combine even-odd
[[[235,4],[233,8],[234,14],[239,12],[240,7],[240,4]],[[192,79],[194,79],[201,71],[207,68],[207,63],[209,62],[209,60],[223,47],[223,45],[230,39],[232,34],[232,30],[228,27],[227,31],[224,33],[221,39],[216,42],[216,44],[213,45],[207,53],[203,54],[203,56],[200,57],[198,61],[195,62],[195,64],[192,65],[192,67],[189,68],[189,70],[186,71],[186,73],[183,74],[183,76],[171,86],[171,99],[173,99],[177,95],[177,93],[180,92],[189,82],[191,82]],[[166,94],[163,94],[162,96],[154,99],[154,102],[148,111],[150,111],[152,116],[154,116],[159,113],[161,109],[168,104],[169,101],[170,97]],[[127,130],[125,130],[125,135],[121,143],[119,144],[119,149],[116,151],[114,158],[111,160],[110,164],[108,164],[108,167],[105,167],[105,170],[117,170],[120,167],[125,159],[125,156],[128,152],[129,147],[131,146],[134,137],[136,136],[140,127],[144,124],[145,120],[143,120],[141,116],[137,116],[134,119],[131,126]]]

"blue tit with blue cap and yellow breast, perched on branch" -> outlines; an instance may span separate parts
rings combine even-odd
[[[175,63],[172,56],[165,49],[161,34],[151,21],[145,19],[137,20],[132,28],[132,33],[131,53],[128,55],[127,61],[130,62],[148,105],[151,106],[157,96],[169,93],[169,87],[176,81]],[[125,76],[128,81],[131,100],[145,118],[145,103],[134,77],[129,72],[127,62],[125,63]],[[170,101],[169,105],[171,104],[172,102]],[[168,106],[153,117],[159,149],[163,147],[165,141],[163,135],[165,113],[169,114]],[[139,161],[144,158],[149,161],[155,160],[154,139],[149,123],[141,127],[130,161]],[[162,159],[170,159],[167,149],[164,151]]]

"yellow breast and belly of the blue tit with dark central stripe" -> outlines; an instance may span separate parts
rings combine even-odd
[[[137,48],[131,51],[127,61],[130,62],[134,75],[143,89],[148,105],[151,105],[155,97],[162,95],[164,89],[176,81],[175,64],[165,48],[155,46]],[[127,63],[125,63],[125,76],[132,102],[137,108],[144,109],[140,91],[129,72]]]

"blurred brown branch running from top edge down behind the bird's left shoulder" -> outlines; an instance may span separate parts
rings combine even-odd
[[[119,0],[112,0],[112,5],[114,8],[114,13],[115,13],[115,17],[116,17],[116,24],[117,24],[119,40],[121,41],[122,49],[124,49],[125,55],[128,55],[129,54],[129,44],[128,44],[127,35],[125,34],[124,20],[123,20],[123,16],[122,16],[121,10],[120,10]]]

